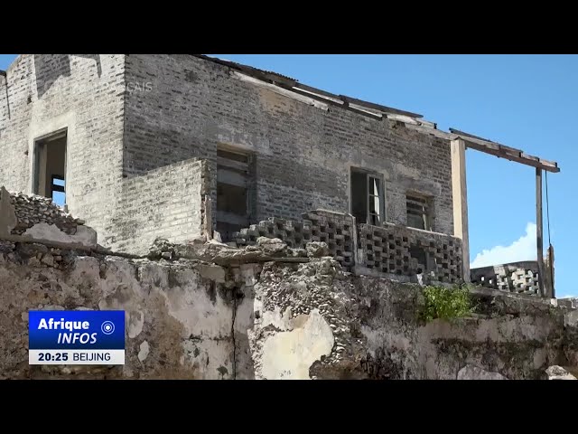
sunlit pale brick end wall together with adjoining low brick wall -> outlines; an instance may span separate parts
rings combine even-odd
[[[155,236],[200,234],[203,181],[194,158],[159,161],[172,154],[163,142],[151,148],[152,170],[123,176],[125,137],[133,134],[126,127],[147,128],[126,123],[128,98],[148,89],[128,81],[125,68],[124,54],[19,56],[0,77],[0,185],[33,193],[35,142],[66,131],[68,211],[95,228],[99,244],[142,253]]]

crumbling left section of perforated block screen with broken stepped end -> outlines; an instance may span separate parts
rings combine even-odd
[[[278,238],[292,248],[305,248],[310,241],[325,241],[341,267],[353,266],[355,240],[353,217],[340,212],[316,210],[303,213],[303,221],[270,217],[233,234],[238,246],[252,245],[258,237]]]

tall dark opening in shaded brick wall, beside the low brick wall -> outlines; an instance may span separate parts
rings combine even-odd
[[[254,156],[217,150],[217,231],[223,242],[251,223],[255,197]]]

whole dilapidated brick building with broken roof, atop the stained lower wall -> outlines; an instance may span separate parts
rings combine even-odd
[[[540,180],[559,170],[202,55],[21,55],[0,75],[0,101],[0,185],[60,200],[124,252],[266,236],[325,241],[360,274],[468,281],[466,148],[534,166]],[[10,231],[33,228],[19,224]]]

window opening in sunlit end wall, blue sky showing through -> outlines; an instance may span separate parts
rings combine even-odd
[[[66,205],[66,130],[34,142],[33,193]]]

